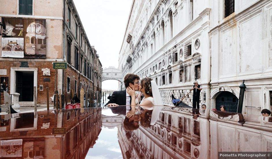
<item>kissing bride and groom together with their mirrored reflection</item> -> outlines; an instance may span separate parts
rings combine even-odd
[[[136,127],[137,125],[139,127],[139,121],[141,125],[154,125],[163,106],[159,88],[156,82],[149,77],[139,80],[138,75],[127,74],[124,77],[126,90],[113,92],[105,106],[111,108],[115,114],[126,115],[125,121]],[[141,101],[139,101],[140,95],[136,95],[135,91],[140,91],[144,95]],[[136,106],[138,106],[137,109]]]

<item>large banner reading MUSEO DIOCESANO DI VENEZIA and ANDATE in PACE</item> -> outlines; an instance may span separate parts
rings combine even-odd
[[[3,18],[2,56],[46,58],[46,20]]]

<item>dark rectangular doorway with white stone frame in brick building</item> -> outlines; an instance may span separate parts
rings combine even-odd
[[[16,93],[19,101],[33,101],[34,71],[16,71]]]

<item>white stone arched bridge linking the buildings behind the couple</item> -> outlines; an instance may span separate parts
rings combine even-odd
[[[122,84],[123,84],[123,72],[119,69],[116,69],[113,66],[110,66],[109,68],[105,68],[102,71],[102,82],[108,79],[115,79],[119,82],[121,82],[121,90],[122,90]]]

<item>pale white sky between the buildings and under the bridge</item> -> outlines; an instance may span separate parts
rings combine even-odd
[[[73,0],[91,46],[95,47],[102,68],[118,68],[132,0]],[[102,82],[102,89],[117,90],[117,80]]]

